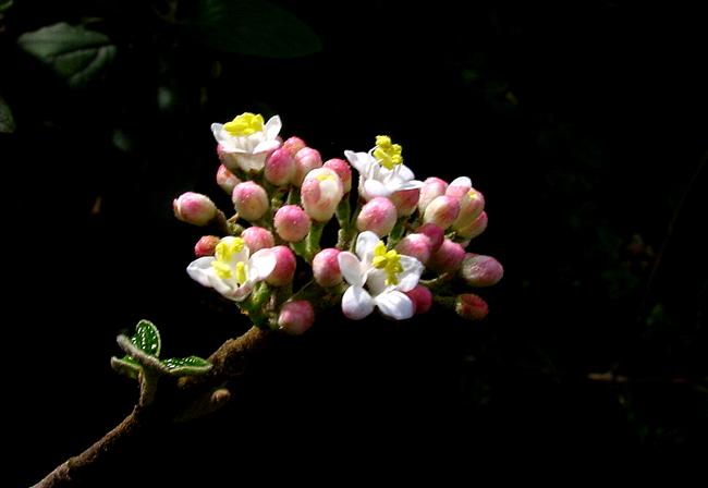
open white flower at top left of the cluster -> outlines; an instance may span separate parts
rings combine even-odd
[[[225,124],[211,124],[211,132],[219,143],[223,164],[230,171],[239,168],[248,172],[260,171],[266,157],[281,146],[281,127],[278,115],[264,124],[263,115],[246,112]]]

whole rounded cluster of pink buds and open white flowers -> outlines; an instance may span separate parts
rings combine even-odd
[[[388,136],[367,152],[322,161],[300,137],[281,138],[278,115],[243,113],[211,130],[217,184],[235,213],[192,192],[173,202],[178,219],[213,229],[187,273],[256,326],[301,334],[331,306],[352,320],[375,310],[403,320],[434,304],[468,319],[487,315],[480,296],[459,292],[503,273],[493,257],[465,251],[487,228],[485,198],[468,178],[416,180]],[[324,230],[334,220],[328,243]]]

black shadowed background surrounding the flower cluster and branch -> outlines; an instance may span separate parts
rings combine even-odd
[[[228,407],[127,456],[149,474],[132,479],[129,463],[112,478],[182,486],[254,463],[295,461],[310,476],[332,463],[472,471],[479,452],[706,449],[708,52],[696,9],[274,2],[321,50],[273,59],[205,46],[149,2],[15,3],[0,20],[0,96],[16,125],[0,133],[3,398],[21,426],[12,456],[30,460],[25,485],[130,413],[136,386],[109,363],[118,333],[146,318],[166,355],[206,357],[247,330],[184,272],[200,231],[171,209],[197,191],[228,210],[209,124],[244,111],[280,114],[281,134],[325,159],[388,134],[418,179],[471,176],[490,223],[468,251],[496,256],[504,279],[479,292],[491,309],[480,322],[443,310],[318,318]],[[176,17],[197,7],[180,2]],[[117,54],[81,90],[16,47],[22,33],[87,17]],[[586,379],[611,368],[631,381]]]

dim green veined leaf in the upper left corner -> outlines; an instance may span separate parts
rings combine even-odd
[[[115,57],[115,46],[106,34],[65,22],[24,33],[17,44],[72,88],[102,76]]]

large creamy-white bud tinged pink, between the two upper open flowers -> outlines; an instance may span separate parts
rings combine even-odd
[[[343,192],[342,180],[334,170],[312,170],[301,187],[303,208],[313,220],[327,222],[334,216]]]

